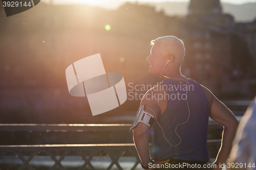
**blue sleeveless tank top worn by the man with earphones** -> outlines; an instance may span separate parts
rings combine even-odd
[[[209,102],[201,85],[188,79],[189,88],[186,103],[185,81],[165,80],[161,84],[166,89],[167,106],[152,127],[154,132],[154,160],[181,159],[208,162],[207,129],[209,119]],[[188,119],[188,120],[187,120]],[[187,122],[186,122],[187,120]],[[182,124],[186,122],[185,124]],[[182,125],[179,125],[182,124]],[[179,125],[179,126],[178,126]],[[178,127],[177,127],[178,126]],[[177,127],[177,136],[175,129]]]

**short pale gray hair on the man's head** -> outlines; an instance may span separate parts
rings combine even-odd
[[[161,51],[164,55],[173,55],[174,63],[178,66],[181,65],[185,56],[185,46],[181,39],[175,36],[159,37],[151,41],[151,44],[159,43]]]

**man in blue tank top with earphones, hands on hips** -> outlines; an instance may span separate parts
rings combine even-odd
[[[213,163],[216,166],[212,168],[221,169],[219,165],[227,161],[236,136],[237,118],[210,90],[181,74],[185,47],[179,38],[165,36],[151,43],[151,55],[147,58],[150,74],[160,76],[163,82],[145,93],[131,128],[142,167],[207,167],[207,127],[211,117],[224,127],[221,148]],[[150,157],[147,139],[151,126],[154,132],[154,161]]]

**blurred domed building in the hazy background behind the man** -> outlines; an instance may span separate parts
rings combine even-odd
[[[233,17],[222,13],[220,1],[191,0],[181,22],[185,28],[181,34],[189,44],[186,57],[191,61],[186,69],[191,77],[223,97],[248,95],[251,56],[246,42],[238,37]]]

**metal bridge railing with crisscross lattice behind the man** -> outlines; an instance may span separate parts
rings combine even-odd
[[[126,131],[130,124],[72,124],[72,125],[19,125],[0,124],[0,131]],[[220,148],[220,139],[208,140],[207,146],[210,157],[216,157]],[[19,160],[8,161],[15,157]],[[31,163],[33,159],[42,157],[50,158],[53,164],[38,167]],[[65,165],[65,160],[80,157],[81,161],[73,169],[142,169],[134,143],[106,143],[106,144],[37,144],[37,145],[0,145],[0,169],[72,169]],[[103,158],[108,157],[106,164]],[[97,158],[97,159],[95,159]],[[73,160],[73,159],[72,159]],[[72,161],[71,160],[71,161]],[[122,161],[129,165],[122,164]],[[41,161],[44,161],[42,159]],[[104,160],[105,161],[105,160]]]

